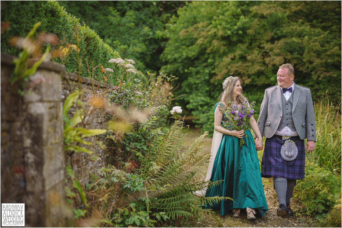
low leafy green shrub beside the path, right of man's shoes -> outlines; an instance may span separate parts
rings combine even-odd
[[[299,198],[303,205],[300,213],[315,218],[326,217],[336,201],[341,199],[341,177],[306,162],[305,178],[297,182],[294,197]]]

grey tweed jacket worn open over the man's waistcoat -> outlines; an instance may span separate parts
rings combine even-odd
[[[265,138],[271,138],[278,129],[282,117],[282,100],[284,96],[279,85],[265,90],[264,99],[261,103],[258,127]],[[314,106],[312,104],[311,91],[309,88],[294,84],[292,118],[294,126],[301,139],[316,142],[316,122]]]

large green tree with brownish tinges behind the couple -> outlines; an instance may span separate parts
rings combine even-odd
[[[291,63],[295,83],[313,100],[341,97],[340,1],[193,1],[173,16],[161,70],[179,77],[182,96],[197,123],[212,130],[221,83],[231,75],[261,104],[276,85],[279,65]]]

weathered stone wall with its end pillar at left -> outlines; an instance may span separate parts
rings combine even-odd
[[[89,174],[106,165],[106,151],[96,143],[98,136],[87,139],[92,155],[63,150],[63,102],[78,88],[77,75],[45,62],[29,77],[22,96],[18,82],[10,82],[12,61],[1,53],[1,203],[25,203],[26,226],[70,226],[65,166],[71,165],[84,186]],[[90,79],[81,81],[84,94],[92,91]],[[99,92],[108,88],[97,81],[94,85]],[[86,128],[105,128],[107,120],[106,113],[97,111]]]

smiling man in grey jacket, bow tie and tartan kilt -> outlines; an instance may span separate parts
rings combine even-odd
[[[277,72],[278,85],[265,90],[258,119],[260,133],[266,138],[261,176],[274,177],[274,188],[279,201],[277,215],[282,218],[293,215],[290,208],[292,191],[296,180],[304,178],[305,150],[311,153],[316,142],[310,89],[295,84],[293,79],[293,66],[289,63],[281,65]],[[287,140],[295,142],[298,148],[294,160],[280,154],[281,147]],[[257,142],[258,138],[255,139],[255,145]]]

